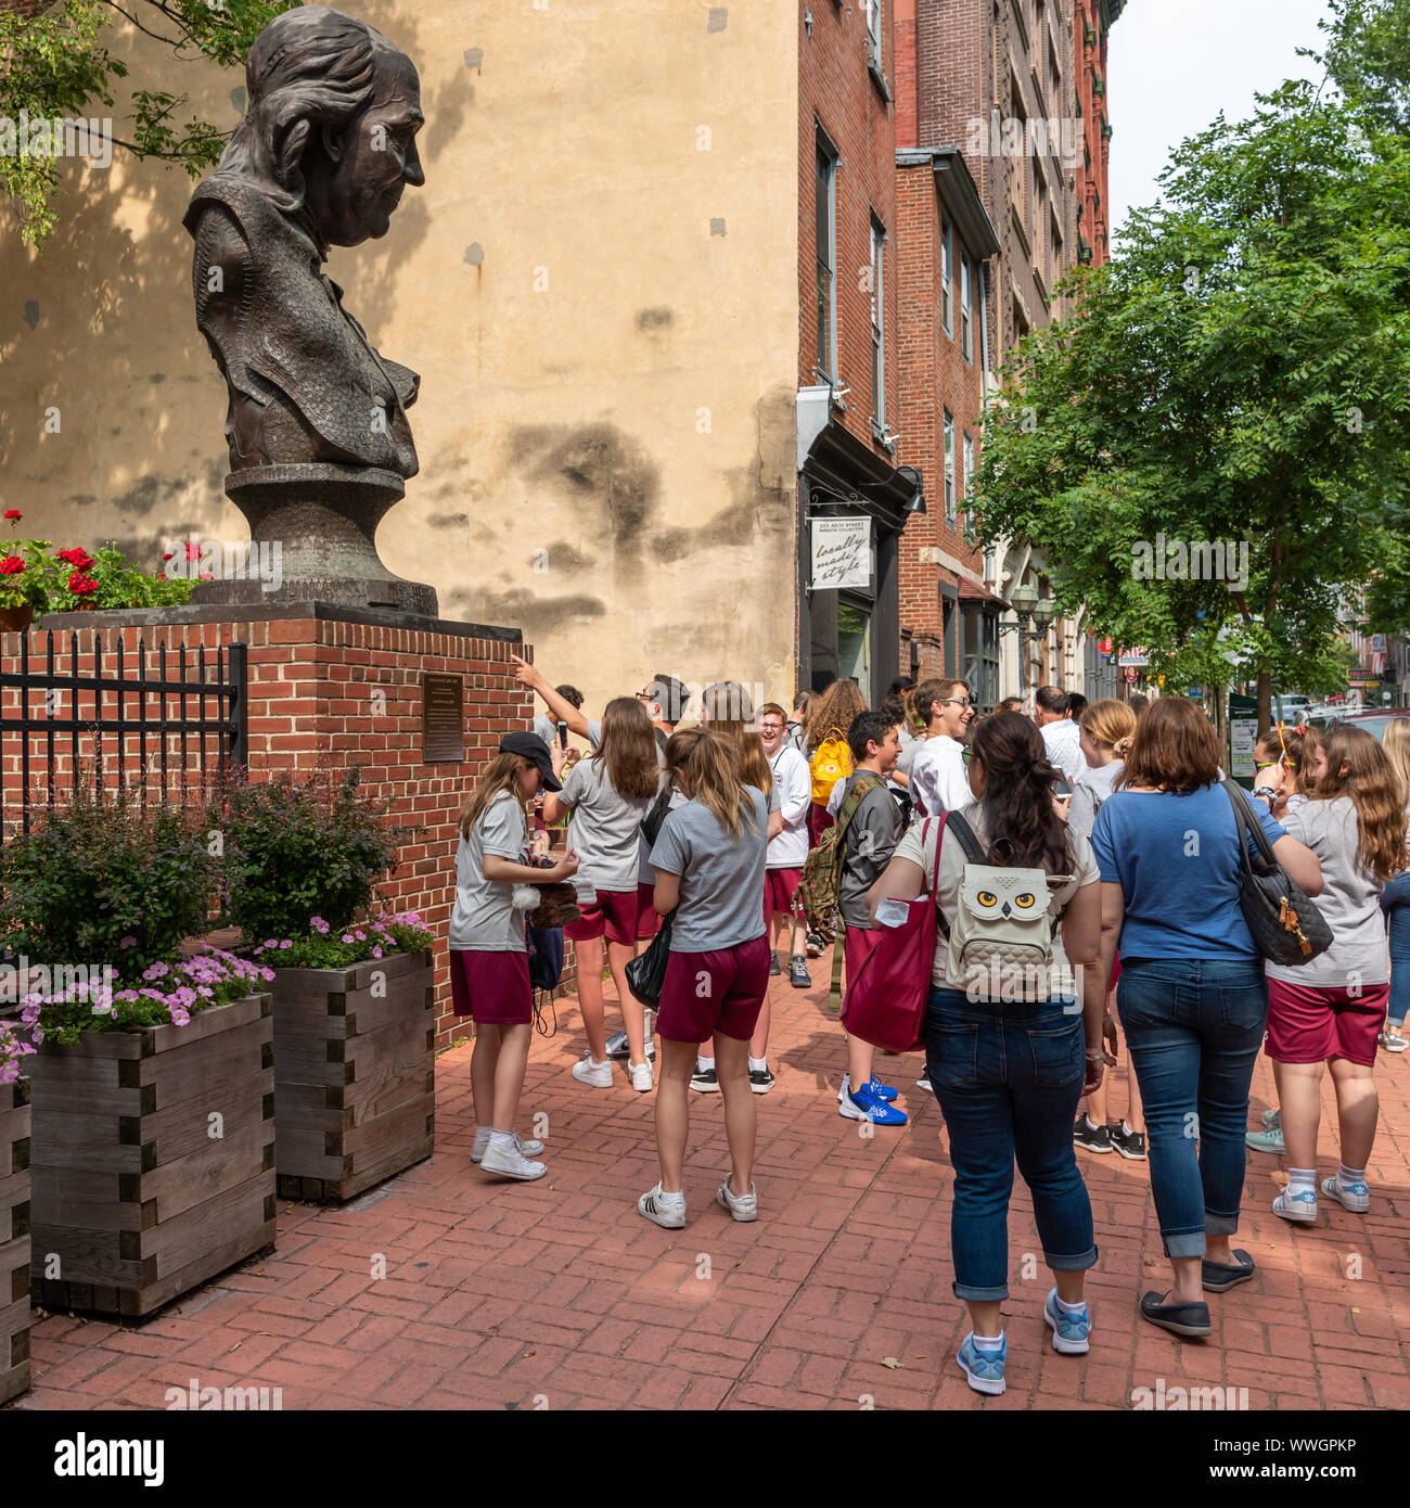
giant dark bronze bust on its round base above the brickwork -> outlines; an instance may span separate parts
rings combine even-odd
[[[323,271],[330,246],[386,235],[406,187],[425,182],[416,68],[365,23],[302,6],[259,33],[246,83],[246,115],[184,219],[196,323],[229,392],[226,493],[255,540],[280,540],[280,599],[434,612],[434,593],[391,576],[374,544],[418,470],[406,410],[419,377],[372,347]]]

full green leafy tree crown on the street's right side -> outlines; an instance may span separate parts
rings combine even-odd
[[[976,535],[1041,546],[1060,605],[1148,645],[1154,673],[1256,677],[1267,727],[1274,682],[1341,685],[1348,590],[1410,578],[1387,529],[1407,486],[1410,146],[1294,81],[1184,142],[1161,184],[1006,368]],[[1225,541],[1232,562],[1158,579],[1160,535]]]

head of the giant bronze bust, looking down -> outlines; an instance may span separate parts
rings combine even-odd
[[[421,83],[406,53],[363,21],[300,6],[259,33],[244,77],[246,113],[219,172],[305,211],[327,246],[386,235],[406,185],[425,182]]]

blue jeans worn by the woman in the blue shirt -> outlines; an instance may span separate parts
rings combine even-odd
[[[1116,1007],[1166,1256],[1203,1256],[1206,1232],[1238,1229],[1249,1081],[1268,1021],[1262,959],[1123,958]]]

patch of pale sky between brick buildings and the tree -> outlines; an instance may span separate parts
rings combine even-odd
[[[1252,113],[1255,92],[1310,78],[1298,47],[1321,47],[1326,0],[1128,0],[1107,45],[1113,241],[1137,205],[1160,196],[1170,148],[1220,110]]]

